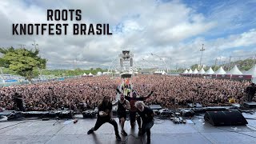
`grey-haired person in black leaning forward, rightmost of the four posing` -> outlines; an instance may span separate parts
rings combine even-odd
[[[135,106],[138,109],[138,114],[142,118],[142,135],[146,133],[146,143],[150,143],[150,129],[154,125],[154,111],[142,101],[136,102]]]

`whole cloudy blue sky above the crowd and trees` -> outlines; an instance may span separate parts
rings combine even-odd
[[[81,23],[108,23],[113,34],[12,34],[13,23],[52,23],[48,9],[82,10]],[[119,65],[122,50],[134,54],[137,67],[185,68],[201,55],[213,66],[216,58],[254,57],[255,14],[256,0],[1,0],[0,47],[33,49],[35,41],[48,69],[107,69]]]

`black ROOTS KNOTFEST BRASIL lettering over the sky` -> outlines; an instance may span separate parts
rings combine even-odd
[[[73,35],[112,35],[108,23],[60,23],[81,21],[82,10],[47,10],[47,21],[54,23],[13,23],[13,35],[62,35],[72,31]],[[72,30],[68,27],[72,26]]]

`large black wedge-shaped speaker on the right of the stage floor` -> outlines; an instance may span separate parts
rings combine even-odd
[[[246,118],[238,110],[206,111],[206,122],[213,126],[246,126]]]

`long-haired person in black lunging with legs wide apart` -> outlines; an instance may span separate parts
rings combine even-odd
[[[94,131],[98,130],[102,124],[109,122],[114,126],[115,136],[118,141],[121,141],[121,137],[118,133],[118,123],[112,118],[112,103],[110,102],[110,97],[105,96],[102,99],[102,102],[98,106],[98,118],[95,123],[95,126],[92,127],[87,134],[92,134]]]

